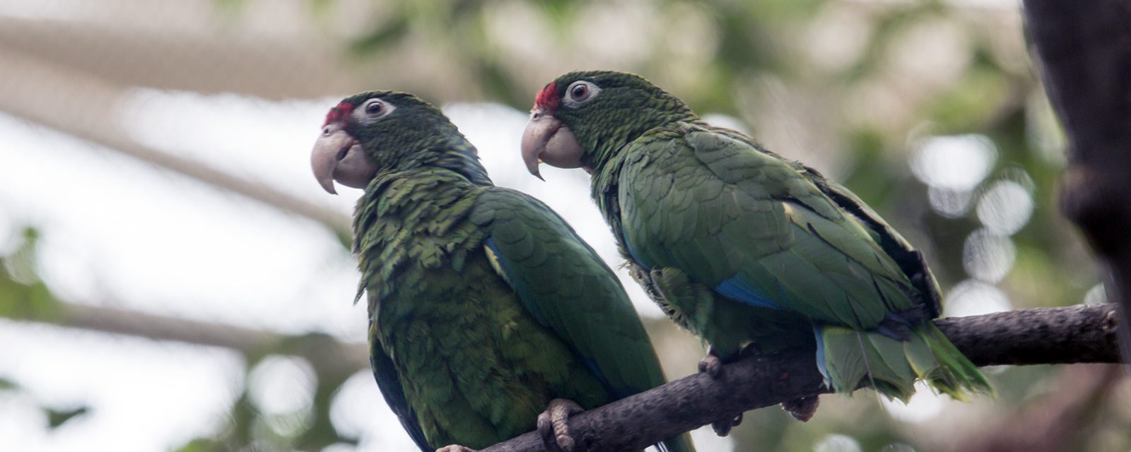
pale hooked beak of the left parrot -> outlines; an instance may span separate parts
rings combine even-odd
[[[314,179],[330,194],[334,181],[355,189],[364,189],[377,174],[377,165],[365,156],[364,149],[340,122],[326,124],[322,136],[314,142],[310,154],[310,164],[314,169]]]

